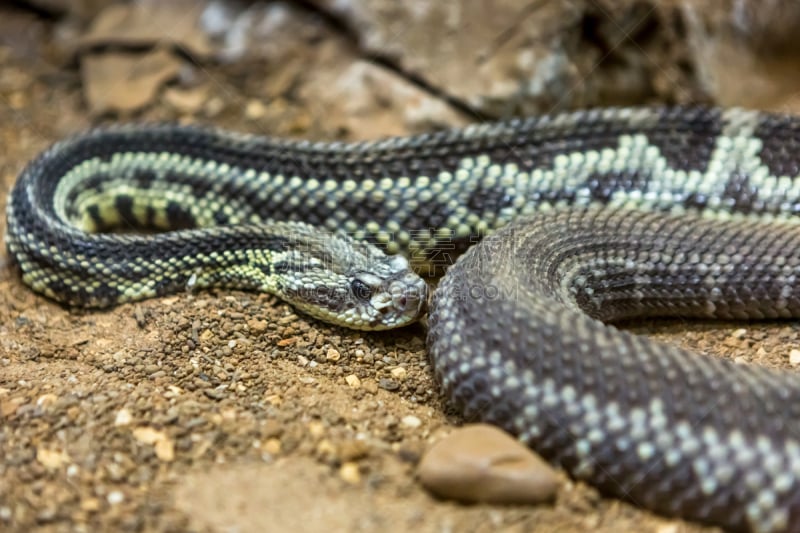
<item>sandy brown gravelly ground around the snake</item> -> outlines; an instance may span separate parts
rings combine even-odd
[[[338,79],[338,51],[348,49],[335,32],[314,27],[292,61],[193,63],[188,71],[182,62],[182,82],[164,86],[175,76],[162,76],[140,109],[109,113],[88,99],[91,67],[79,69],[74,57],[49,48],[52,20],[0,8],[0,21],[2,209],[26,161],[109,119],[353,139],[427,126],[396,120],[398,102],[409,99],[433,102],[437,121],[471,118],[412,86],[373,92],[360,107],[310,104]],[[158,63],[160,76],[172,72],[169,61]],[[348,61],[348,72],[367,72],[373,82],[390,75],[369,63],[354,71]],[[322,78],[295,87],[306,65]],[[631,329],[787,369],[800,347],[794,323]],[[701,530],[604,499],[565,476],[554,505],[437,501],[417,483],[415,466],[430,442],[460,422],[432,380],[421,326],[355,333],[235,291],[70,311],[31,293],[2,256],[2,530]]]

